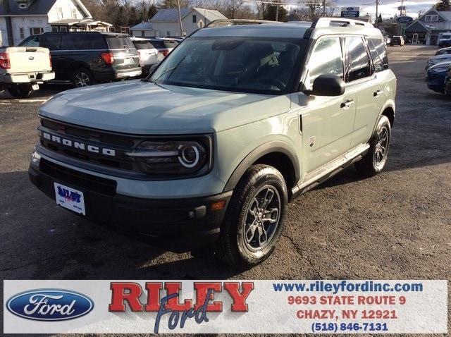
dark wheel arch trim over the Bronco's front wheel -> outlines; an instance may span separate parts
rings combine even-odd
[[[286,142],[273,141],[260,145],[240,162],[228,178],[224,192],[233,190],[247,169],[254,164],[267,164],[278,169],[285,179],[289,194],[299,181],[299,160],[294,149]]]

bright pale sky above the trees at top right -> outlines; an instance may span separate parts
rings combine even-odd
[[[335,0],[334,2],[340,7],[359,6],[361,16],[369,13],[374,17],[376,14],[376,0]],[[438,1],[410,0],[404,1],[404,6],[406,6],[407,16],[416,18],[419,11],[424,13],[437,2]],[[397,11],[398,6],[401,6],[400,1],[379,0],[379,13],[382,13],[383,18],[393,17],[395,13],[399,14],[399,11]],[[337,9],[335,9],[335,11],[337,11]]]

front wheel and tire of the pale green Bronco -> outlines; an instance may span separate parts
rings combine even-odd
[[[265,198],[271,200],[266,202]],[[267,259],[280,237],[287,203],[282,174],[272,166],[251,166],[233,191],[221,225],[218,257],[239,269],[249,269]]]

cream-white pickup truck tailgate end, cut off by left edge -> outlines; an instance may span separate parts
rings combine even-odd
[[[0,89],[23,98],[39,89],[39,84],[53,80],[50,52],[40,47],[0,48]]]

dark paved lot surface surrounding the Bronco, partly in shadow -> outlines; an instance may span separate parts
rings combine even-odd
[[[450,280],[451,97],[425,87],[424,66],[434,51],[390,48],[398,94],[385,171],[362,180],[350,168],[295,200],[276,252],[244,272],[208,254],[168,252],[56,207],[28,181],[27,166],[37,107],[64,87],[23,100],[1,94],[1,279]]]

